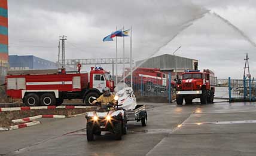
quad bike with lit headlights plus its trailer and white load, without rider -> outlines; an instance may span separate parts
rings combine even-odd
[[[101,131],[114,133],[116,140],[121,140],[127,131],[127,121],[141,121],[142,126],[146,126],[147,111],[145,105],[137,105],[136,97],[132,88],[119,84],[115,87],[115,100],[117,106],[112,103],[100,106],[96,111],[87,112],[86,136],[88,141],[92,141],[95,135],[100,135]]]

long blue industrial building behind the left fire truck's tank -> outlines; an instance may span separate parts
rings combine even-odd
[[[9,63],[11,70],[25,70],[25,69],[56,69],[57,64],[39,57],[28,55],[18,56],[10,55]]]

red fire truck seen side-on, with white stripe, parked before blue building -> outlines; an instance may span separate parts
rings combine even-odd
[[[75,72],[65,68],[8,71],[7,95],[22,99],[27,106],[57,106],[64,99],[83,99],[86,105],[92,105],[92,97],[99,97],[103,87],[114,90],[109,72],[92,67],[89,73],[80,73],[80,67]]]

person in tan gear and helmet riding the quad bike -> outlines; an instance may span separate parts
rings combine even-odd
[[[93,105],[100,103],[101,105],[107,105],[108,107],[113,107],[117,105],[117,100],[114,99],[115,95],[110,93],[108,87],[103,88],[103,94],[93,101]]]

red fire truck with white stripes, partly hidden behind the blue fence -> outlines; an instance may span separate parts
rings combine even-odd
[[[130,69],[126,69],[126,75]],[[166,89],[167,74],[161,72],[159,68],[137,68],[133,71],[133,85],[143,86],[144,91],[155,91],[156,89]],[[126,83],[130,84],[130,77],[126,78]],[[175,82],[171,82],[172,88],[175,87]]]

